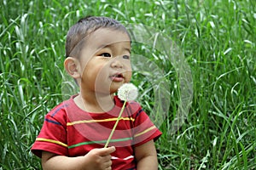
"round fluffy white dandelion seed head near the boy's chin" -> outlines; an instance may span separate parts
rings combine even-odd
[[[118,97],[123,101],[135,100],[137,95],[137,87],[132,83],[125,83],[118,89]]]

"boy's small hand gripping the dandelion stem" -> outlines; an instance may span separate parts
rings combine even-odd
[[[102,148],[90,150],[84,157],[90,162],[88,169],[94,170],[111,170],[111,153],[115,151],[115,148]],[[86,168],[87,169],[87,168]]]

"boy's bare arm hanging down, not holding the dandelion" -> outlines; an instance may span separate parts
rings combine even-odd
[[[154,147],[154,140],[135,147],[135,158],[137,160],[137,170],[157,170],[157,153]]]

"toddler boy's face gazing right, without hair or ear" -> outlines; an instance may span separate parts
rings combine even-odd
[[[113,94],[130,82],[131,41],[127,33],[101,28],[85,38],[79,57],[81,92]]]

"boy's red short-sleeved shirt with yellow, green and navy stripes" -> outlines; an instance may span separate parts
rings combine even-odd
[[[42,150],[61,156],[84,156],[106,144],[123,102],[114,97],[115,106],[106,113],[81,110],[71,99],[63,101],[45,116],[44,125],[32,152],[41,157]],[[137,102],[125,105],[119,124],[108,146],[115,146],[112,169],[136,169],[133,147],[158,139],[161,133]]]

